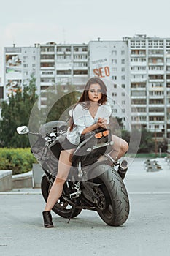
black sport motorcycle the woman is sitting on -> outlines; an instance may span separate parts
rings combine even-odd
[[[38,133],[30,132],[26,126],[17,128],[19,134],[36,136],[31,152],[45,172],[41,181],[45,201],[57,175],[66,129],[67,123],[64,121],[43,124]],[[98,128],[81,136],[80,145],[72,154],[72,167],[63,185],[62,195],[52,209],[55,214],[70,221],[82,209],[88,209],[97,211],[107,225],[120,226],[125,223],[129,214],[128,192],[115,170],[120,162],[110,157],[111,150],[109,129]]]

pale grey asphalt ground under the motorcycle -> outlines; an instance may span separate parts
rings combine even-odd
[[[0,255],[170,255],[170,168],[148,173],[144,159],[134,159],[125,178],[131,211],[120,227],[109,227],[93,211],[67,223],[53,213],[45,229],[45,201],[40,189],[0,193]]]

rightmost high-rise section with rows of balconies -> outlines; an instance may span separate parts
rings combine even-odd
[[[128,43],[131,124],[170,138],[170,38],[137,35]]]

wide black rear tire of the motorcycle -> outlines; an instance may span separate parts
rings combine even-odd
[[[125,184],[114,167],[101,165],[98,168],[105,170],[104,173],[93,179],[93,182],[101,184],[101,198],[103,198],[101,204],[104,205],[104,209],[97,209],[98,215],[107,225],[123,225],[129,215],[128,192],[125,189]]]

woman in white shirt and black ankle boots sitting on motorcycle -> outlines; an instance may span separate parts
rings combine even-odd
[[[50,210],[61,197],[63,184],[69,175],[72,165],[70,155],[80,143],[80,135],[85,135],[99,127],[107,127],[111,108],[107,103],[107,88],[100,78],[90,78],[85,86],[82,96],[72,111],[72,125],[68,128],[66,139],[63,142],[64,150],[61,151],[58,162],[58,174],[55,178],[50,193],[47,198],[45,211],[42,212],[45,227],[53,227]],[[120,159],[128,151],[128,143],[121,138],[112,135],[111,157],[115,160]],[[124,166],[123,166],[124,165]],[[123,176],[127,170],[127,162],[122,162]],[[119,173],[120,170],[118,170]],[[120,176],[122,173],[120,172]],[[122,178],[124,178],[122,176]]]

